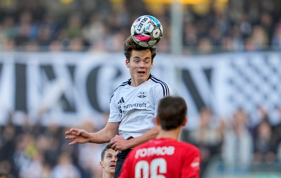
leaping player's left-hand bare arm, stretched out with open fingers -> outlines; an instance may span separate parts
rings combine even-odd
[[[108,143],[115,135],[118,133],[120,122],[108,122],[106,127],[96,133],[89,133],[83,129],[72,128],[70,131],[65,132],[65,139],[74,140],[69,143],[69,145],[74,145],[75,143]]]

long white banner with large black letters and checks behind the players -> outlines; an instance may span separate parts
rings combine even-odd
[[[261,104],[274,124],[279,122],[275,107],[281,106],[280,58],[279,52],[157,54],[151,74],[186,99],[190,128],[202,106],[220,117],[241,107],[256,123]],[[101,125],[113,91],[129,78],[122,53],[0,53],[0,124],[15,111],[17,124],[28,113],[32,123],[43,125],[84,120]]]

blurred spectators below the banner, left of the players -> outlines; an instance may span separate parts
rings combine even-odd
[[[56,124],[43,127],[32,123],[28,114],[23,117],[25,123],[18,126],[14,124],[15,113],[11,113],[6,126],[0,127],[1,178],[102,177],[99,163],[106,144],[69,146],[69,140],[65,139],[69,127]],[[97,132],[104,126],[97,127],[85,121],[77,127]]]

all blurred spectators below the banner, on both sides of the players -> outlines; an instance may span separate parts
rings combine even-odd
[[[212,157],[220,157],[227,168],[248,170],[255,165],[281,162],[280,122],[272,125],[265,107],[257,107],[259,122],[253,124],[243,108],[237,108],[230,118],[218,118],[211,108],[203,107],[198,126],[184,129],[182,140],[199,147],[202,156],[201,176]],[[108,114],[106,115],[108,116]],[[100,178],[101,151],[106,144],[75,144],[69,146],[65,131],[69,127],[51,124],[43,127],[31,124],[28,114],[21,126],[14,124],[11,113],[6,126],[0,127],[0,174],[3,178]],[[103,117],[103,124],[108,118]],[[256,118],[254,119],[256,120]],[[104,125],[85,121],[77,127],[89,132]],[[0,176],[1,177],[1,176]],[[2,177],[1,177],[2,178]]]

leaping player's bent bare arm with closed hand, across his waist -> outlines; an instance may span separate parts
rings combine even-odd
[[[115,151],[126,150],[128,148],[136,147],[136,146],[140,145],[141,143],[144,143],[152,138],[155,138],[159,134],[159,131],[160,131],[160,127],[155,126],[154,128],[152,128],[150,131],[146,132],[145,134],[143,134],[139,137],[136,137],[136,138],[132,138],[130,140],[125,140],[123,137],[116,135],[114,138],[111,139],[111,141],[109,142],[109,145]]]

